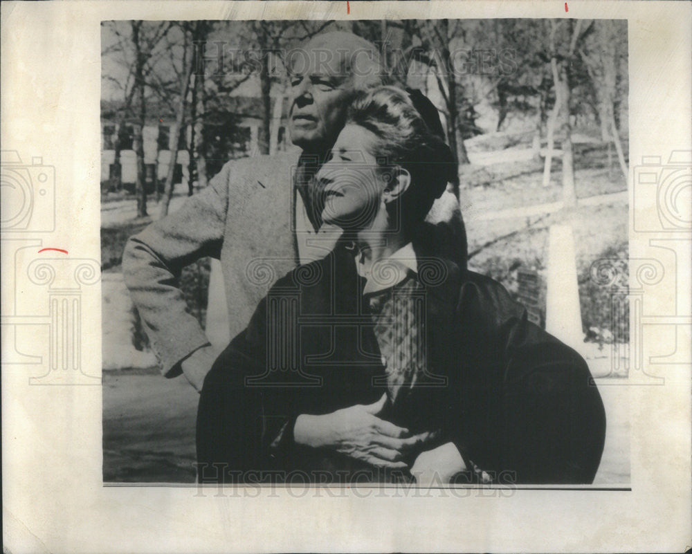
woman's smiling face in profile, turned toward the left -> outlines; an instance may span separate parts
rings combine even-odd
[[[363,229],[379,212],[386,182],[371,154],[378,138],[347,124],[336,138],[331,158],[317,174],[323,187],[322,219],[344,229]]]

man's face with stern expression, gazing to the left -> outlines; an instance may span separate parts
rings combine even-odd
[[[291,139],[304,151],[329,149],[343,128],[354,93],[353,75],[343,62],[344,50],[335,53],[324,46],[303,50],[293,61]]]

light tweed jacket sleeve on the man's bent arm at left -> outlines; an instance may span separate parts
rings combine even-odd
[[[230,172],[229,163],[180,210],[131,237],[122,255],[125,284],[167,377],[179,375],[180,362],[208,344],[197,320],[185,310],[179,277],[193,261],[220,255]]]

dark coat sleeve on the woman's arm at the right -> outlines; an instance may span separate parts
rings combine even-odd
[[[462,286],[457,448],[495,482],[591,483],[605,412],[586,362],[485,277]],[[457,389],[458,390],[458,389]]]

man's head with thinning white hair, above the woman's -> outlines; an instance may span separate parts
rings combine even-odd
[[[334,31],[291,50],[291,138],[304,151],[331,148],[356,91],[385,83],[379,50],[353,33]]]

